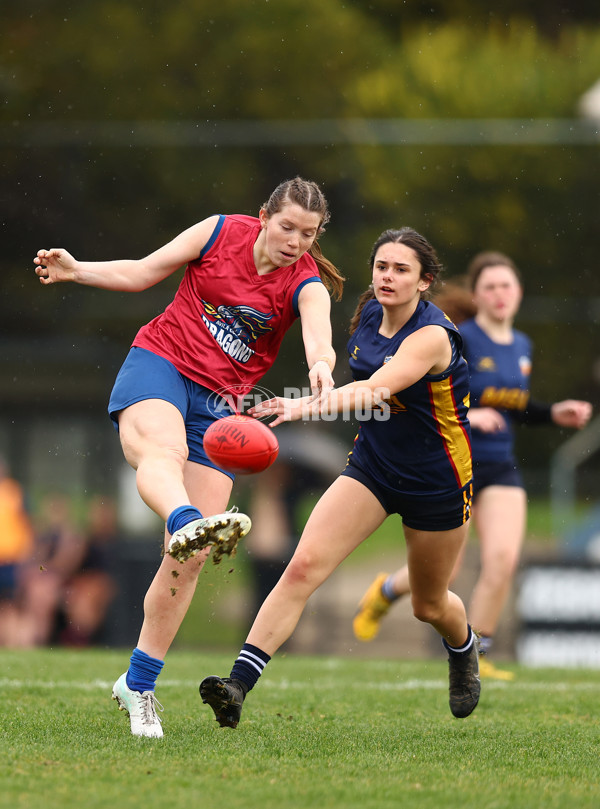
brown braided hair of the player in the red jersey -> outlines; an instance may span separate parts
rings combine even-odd
[[[317,239],[321,233],[325,232],[325,225],[329,222],[329,206],[327,200],[319,186],[311,180],[303,180],[302,177],[294,177],[293,180],[285,180],[280,183],[271,194],[268,201],[263,204],[263,210],[267,216],[279,213],[284,205],[288,203],[299,205],[305,211],[319,214],[319,230],[317,237],[310,246],[308,252],[314,259],[321,280],[335,297],[336,300],[342,297],[344,289],[344,276],[329,259],[325,258],[321,252],[321,246]]]

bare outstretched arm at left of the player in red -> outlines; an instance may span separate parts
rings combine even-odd
[[[210,216],[141,259],[78,261],[60,247],[38,250],[33,260],[35,272],[42,284],[72,281],[100,289],[141,292],[198,258],[217,221],[218,217]]]

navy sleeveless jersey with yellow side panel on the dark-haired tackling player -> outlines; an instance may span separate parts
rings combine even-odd
[[[379,334],[382,315],[376,300],[365,304],[348,342],[354,380],[368,379],[406,337],[428,325],[447,329],[453,358],[444,373],[425,375],[361,421],[349,462],[400,494],[450,496],[472,476],[469,374],[462,338],[441,309],[426,301],[419,302],[414,315],[391,338]]]

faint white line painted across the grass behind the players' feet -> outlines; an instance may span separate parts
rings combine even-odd
[[[159,680],[158,688],[198,688],[198,680]],[[307,680],[261,680],[262,686],[267,686],[273,690],[288,691],[288,690],[303,690],[307,686]],[[111,691],[114,685],[113,681],[108,680],[91,680],[85,681],[71,681],[71,680],[58,680],[56,682],[48,680],[11,680],[8,677],[0,678],[0,689],[9,688],[41,688],[43,690],[60,690],[65,689],[69,691]],[[340,687],[339,681],[326,679],[319,679],[319,691],[338,691]],[[405,680],[403,682],[381,682],[381,683],[347,683],[344,685],[345,691],[440,691],[447,690],[447,680]],[[546,683],[538,681],[535,683],[523,683],[514,680],[510,683],[500,681],[483,681],[482,689],[485,691],[491,690],[504,690],[510,689],[515,691],[598,691],[600,690],[600,683]]]

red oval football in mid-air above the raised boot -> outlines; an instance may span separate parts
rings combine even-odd
[[[275,433],[250,416],[225,416],[204,433],[210,460],[236,475],[252,475],[271,466],[279,452]]]

